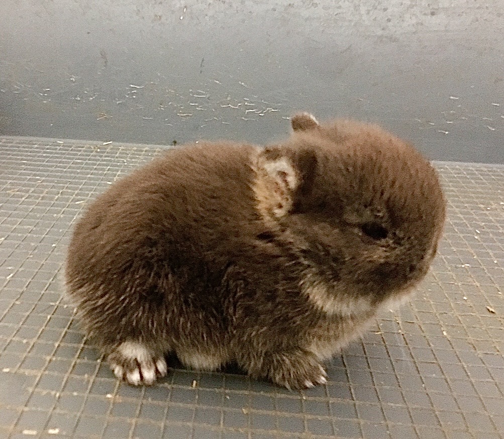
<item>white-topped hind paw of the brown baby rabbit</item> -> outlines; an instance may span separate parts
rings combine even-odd
[[[115,376],[134,386],[154,384],[158,377],[168,371],[162,355],[155,355],[138,342],[121,343],[108,357],[107,361]]]

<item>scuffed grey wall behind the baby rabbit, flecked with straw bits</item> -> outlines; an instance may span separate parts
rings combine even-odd
[[[501,0],[2,0],[0,134],[256,143],[377,121],[504,162]]]

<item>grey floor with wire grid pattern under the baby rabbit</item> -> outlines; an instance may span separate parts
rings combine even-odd
[[[0,138],[0,437],[504,437],[504,166],[436,163],[449,200],[416,298],[289,392],[172,369],[119,383],[62,299],[72,224],[159,147]]]

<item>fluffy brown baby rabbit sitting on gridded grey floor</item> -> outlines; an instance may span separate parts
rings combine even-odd
[[[68,294],[117,377],[152,384],[175,353],[322,384],[321,361],[426,274],[445,219],[432,166],[376,126],[292,127],[266,148],[172,149],[79,221]]]

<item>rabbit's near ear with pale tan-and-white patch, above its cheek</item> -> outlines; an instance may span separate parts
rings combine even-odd
[[[280,217],[309,198],[317,158],[311,151],[266,148],[258,157],[255,192],[262,209]]]

